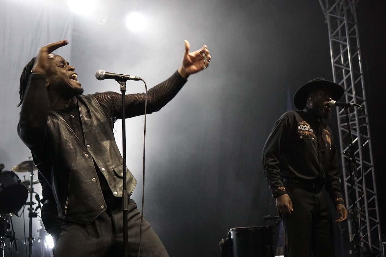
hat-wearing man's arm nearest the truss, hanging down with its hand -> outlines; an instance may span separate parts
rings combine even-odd
[[[340,173],[338,170],[339,160],[337,156],[337,149],[335,147],[334,139],[331,138],[330,149],[330,169],[326,174],[326,190],[330,194],[332,202],[338,213],[338,219],[336,222],[342,222],[347,220],[347,209],[343,200],[342,193],[340,192]]]

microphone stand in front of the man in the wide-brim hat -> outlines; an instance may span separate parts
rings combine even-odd
[[[358,215],[356,210],[356,204],[355,204],[355,196],[354,196],[354,179],[352,175],[354,174],[356,177],[359,176],[357,171],[357,165],[355,160],[355,151],[354,151],[354,145],[352,144],[352,134],[351,134],[351,127],[350,127],[350,118],[349,118],[349,108],[344,107],[344,111],[346,114],[346,121],[347,121],[347,129],[350,136],[350,144],[349,144],[349,152],[344,152],[343,154],[347,157],[349,160],[349,173],[350,173],[350,184],[351,184],[351,202],[352,202],[352,215],[354,220],[354,229],[355,229],[355,238],[354,238],[354,244],[355,244],[355,250],[356,250],[356,256],[360,257],[360,250],[359,250],[359,237],[360,237],[360,231],[358,228]]]

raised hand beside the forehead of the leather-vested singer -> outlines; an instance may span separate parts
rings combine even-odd
[[[41,72],[45,74],[46,72],[51,70],[52,66],[51,66],[49,54],[51,54],[54,50],[58,49],[59,47],[62,47],[67,44],[68,44],[67,40],[61,40],[55,43],[47,44],[44,47],[41,47],[39,49],[39,53],[37,54],[35,65],[32,68],[32,72]]]

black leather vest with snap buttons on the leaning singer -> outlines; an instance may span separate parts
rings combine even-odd
[[[34,155],[34,161],[51,185],[59,217],[90,223],[106,210],[95,166],[105,176],[113,195],[122,197],[122,155],[95,97],[86,95],[77,98],[85,145],[58,113],[49,111],[46,149],[42,156]],[[126,172],[130,196],[137,181],[127,168]]]

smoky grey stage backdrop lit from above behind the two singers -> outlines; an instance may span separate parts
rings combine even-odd
[[[0,0],[5,170],[30,156],[16,133],[16,105],[20,73],[39,47],[68,39],[56,53],[76,68],[90,94],[119,92],[117,82],[95,79],[98,69],[140,76],[148,87],[163,81],[181,65],[186,39],[192,50],[207,44],[213,59],[161,111],[147,116],[144,217],[173,257],[220,256],[218,243],[228,228],[271,225],[263,220],[277,215],[262,172],[265,140],[274,121],[293,107],[299,86],[315,77],[332,80],[318,1],[94,1],[90,15],[73,14],[64,2]],[[131,10],[145,13],[146,30],[125,28]],[[143,92],[144,86],[129,81],[127,90]],[[329,124],[336,128],[336,117]],[[117,121],[118,145],[121,132]],[[143,116],[128,119],[127,166],[138,180],[132,198],[139,208],[142,142]],[[17,256],[25,256],[23,218],[13,222]]]

